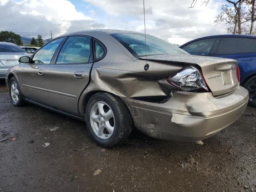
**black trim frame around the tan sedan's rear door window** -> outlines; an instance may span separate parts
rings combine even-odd
[[[57,62],[57,59],[58,59],[58,56],[60,54],[60,50],[62,49],[63,45],[65,44],[66,40],[69,38],[69,37],[72,37],[72,36],[79,36],[79,37],[88,37],[90,38],[90,58],[89,58],[89,62],[82,62],[82,63],[56,63]],[[56,50],[56,53],[54,54],[54,60],[52,61],[52,63],[50,63],[51,65],[74,65],[74,64],[90,64],[90,63],[93,63],[93,46],[92,46],[92,37],[91,36],[88,36],[88,35],[68,35],[68,36],[65,36],[65,40],[63,41],[63,43],[61,44],[61,46]]]

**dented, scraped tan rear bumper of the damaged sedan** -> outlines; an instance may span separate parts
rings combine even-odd
[[[246,109],[248,91],[238,87],[218,98],[210,92],[176,92],[162,104],[122,100],[140,131],[154,138],[192,142],[209,138],[237,120]]]

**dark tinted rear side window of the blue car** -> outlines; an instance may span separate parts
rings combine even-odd
[[[223,37],[220,38],[220,44],[216,51],[216,55],[252,52],[256,52],[256,39]]]

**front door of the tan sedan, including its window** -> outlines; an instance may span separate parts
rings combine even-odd
[[[54,52],[64,38],[58,38],[43,46],[33,58],[30,64],[20,65],[20,79],[22,93],[27,98],[49,104],[47,90],[47,75],[45,74],[48,64],[52,61]]]

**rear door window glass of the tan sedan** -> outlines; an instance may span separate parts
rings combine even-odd
[[[71,36],[62,46],[56,63],[87,63],[90,55],[90,38]]]

